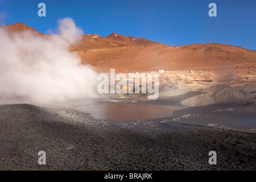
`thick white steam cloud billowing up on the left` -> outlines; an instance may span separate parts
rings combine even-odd
[[[23,97],[40,104],[94,97],[97,74],[70,52],[82,30],[73,19],[59,20],[59,35],[0,28],[0,97]]]

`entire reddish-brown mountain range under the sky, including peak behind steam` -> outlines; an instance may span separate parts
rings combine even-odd
[[[23,23],[6,27],[11,32],[23,30],[38,32]],[[117,72],[234,69],[238,65],[239,68],[249,69],[248,66],[253,68],[256,66],[256,51],[237,46],[217,43],[166,46],[143,38],[116,33],[106,37],[84,34],[80,42],[71,47],[71,51],[81,56],[82,64],[91,64],[103,71],[109,71],[110,68],[115,68]]]

